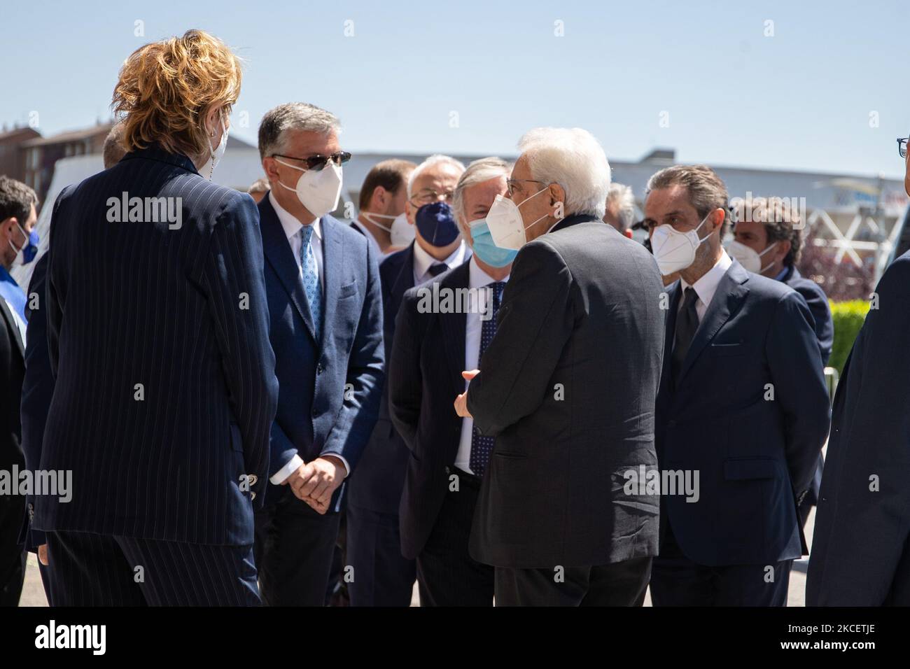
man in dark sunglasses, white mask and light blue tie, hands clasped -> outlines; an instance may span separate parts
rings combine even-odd
[[[332,218],[339,120],[290,103],[259,126],[271,190],[259,203],[278,412],[255,558],[264,603],[325,603],[344,481],[379,411],[383,382],[378,254]]]

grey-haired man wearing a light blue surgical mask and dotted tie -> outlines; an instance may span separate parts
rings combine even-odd
[[[389,357],[389,413],[410,449],[401,497],[401,548],[417,558],[421,606],[491,606],[493,568],[470,557],[468,540],[493,440],[452,411],[461,370],[477,367],[496,333],[496,312],[515,251],[498,248],[486,217],[506,193],[509,166],[475,160],[459,179],[452,208],[473,247],[470,260],[434,279],[440,295],[467,295],[467,309],[421,309],[428,287],[405,293]],[[438,284],[438,286],[437,286]],[[394,369],[392,369],[394,368]]]

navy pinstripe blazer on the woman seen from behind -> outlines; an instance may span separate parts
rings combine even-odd
[[[115,222],[123,193],[182,220]],[[251,544],[278,398],[253,199],[153,145],[66,188],[50,238],[40,467],[73,499],[35,528]]]

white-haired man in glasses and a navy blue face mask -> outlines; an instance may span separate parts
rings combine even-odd
[[[379,264],[383,336],[388,360],[395,315],[405,291],[470,257],[451,202],[464,165],[449,156],[430,156],[410,173],[405,214],[414,241]],[[389,394],[383,392],[379,421],[351,478],[348,499],[348,564],[354,580],[352,606],[408,606],[416,578],[412,559],[401,553],[399,502],[409,451],[389,419]]]

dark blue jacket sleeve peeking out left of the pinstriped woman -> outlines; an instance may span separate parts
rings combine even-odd
[[[47,309],[41,309],[45,296],[48,258],[45,253],[35,261],[32,279],[28,284],[27,295],[36,295],[37,301],[28,299],[25,302],[28,327],[25,330],[25,380],[22,384],[22,450],[25,451],[25,466],[33,471],[38,468],[41,461],[41,442],[45,436],[47,409],[54,396],[54,372],[51,370],[51,360],[47,355]],[[33,304],[35,309],[31,309]],[[26,518],[29,524],[34,512],[35,500],[30,498]],[[32,529],[25,543],[29,550],[33,550],[45,543],[45,533]]]

